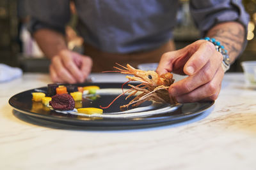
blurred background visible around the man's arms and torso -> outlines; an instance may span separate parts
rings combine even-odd
[[[256,0],[244,0],[244,7],[250,14],[248,45],[230,68],[230,72],[242,71],[240,63],[256,60]],[[76,9],[70,1],[72,19],[66,27],[68,48],[83,52],[83,39],[76,34]],[[36,45],[26,29],[29,21],[26,0],[0,0],[0,63],[20,67],[24,72],[48,72],[49,60]],[[189,0],[180,0],[177,27],[174,31],[177,49],[200,39],[200,34],[189,15]]]

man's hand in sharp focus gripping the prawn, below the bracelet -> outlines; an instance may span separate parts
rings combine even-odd
[[[199,40],[181,50],[164,53],[156,71],[188,75],[168,89],[179,103],[213,101],[220,93],[224,76],[222,60],[223,56],[211,42]]]

